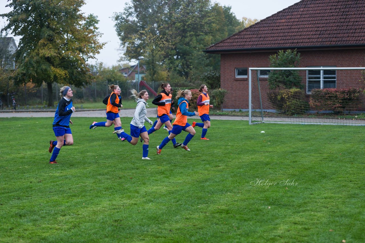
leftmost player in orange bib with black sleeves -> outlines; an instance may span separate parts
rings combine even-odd
[[[109,89],[112,93],[109,96],[108,103],[107,103],[107,121],[106,122],[93,122],[89,129],[95,129],[98,126],[105,126],[110,127],[115,122],[116,127],[114,130],[122,129],[122,122],[120,121],[119,117],[119,110],[118,107],[122,108],[123,105],[119,103],[120,97],[120,88],[118,85],[109,85]]]

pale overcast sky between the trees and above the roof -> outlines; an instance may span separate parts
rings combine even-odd
[[[7,13],[10,8],[5,8],[5,0],[0,0],[0,13]],[[287,8],[300,0],[219,0],[220,5],[230,5],[232,12],[237,19],[248,17],[250,19],[265,19],[274,13]],[[114,29],[114,21],[110,18],[114,12],[123,12],[126,0],[85,0],[86,4],[81,8],[85,15],[93,13],[100,20],[98,27],[103,33],[101,42],[107,42],[100,54],[97,55],[97,61],[103,62],[105,66],[112,66],[118,63],[119,57],[122,55],[118,51],[120,42]],[[4,19],[0,19],[1,26],[4,26]],[[12,36],[11,34],[9,36]],[[19,37],[14,37],[16,44],[19,42]],[[92,60],[91,63],[95,63]],[[133,64],[133,62],[130,62]]]

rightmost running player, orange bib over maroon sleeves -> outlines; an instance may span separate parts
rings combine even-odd
[[[200,85],[199,92],[201,92],[201,94],[198,96],[196,105],[198,106],[199,116],[203,123],[196,123],[194,121],[192,127],[195,128],[195,126],[199,126],[200,128],[203,128],[200,139],[209,140],[209,138],[205,137],[205,134],[207,134],[208,128],[210,128],[209,108],[213,108],[213,105],[209,104],[208,88],[206,85]]]

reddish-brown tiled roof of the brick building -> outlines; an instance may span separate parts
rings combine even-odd
[[[365,46],[365,0],[302,0],[205,51],[357,45]]]

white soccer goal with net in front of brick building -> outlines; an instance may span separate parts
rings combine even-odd
[[[249,124],[365,125],[365,67],[249,68]],[[274,72],[295,71],[302,89],[270,89]],[[253,81],[254,79],[254,81]]]

